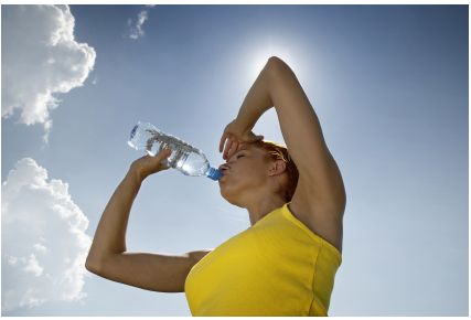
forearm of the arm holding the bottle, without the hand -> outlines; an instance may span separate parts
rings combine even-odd
[[[103,212],[87,262],[95,263],[107,255],[126,252],[126,230],[132,203],[139,192],[141,179],[129,170],[115,190]]]

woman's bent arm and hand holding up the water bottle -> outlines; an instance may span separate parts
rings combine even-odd
[[[125,179],[105,207],[92,243],[85,267],[104,278],[147,290],[182,292],[190,269],[208,250],[183,255],[126,252],[126,230],[132,202],[142,181],[150,174],[169,169],[161,164],[170,156],[162,150],[156,157],[132,162]]]

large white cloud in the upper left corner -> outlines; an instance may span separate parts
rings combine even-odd
[[[21,111],[19,122],[42,124],[47,137],[55,94],[84,84],[95,50],[74,40],[68,6],[2,7],[2,117]]]

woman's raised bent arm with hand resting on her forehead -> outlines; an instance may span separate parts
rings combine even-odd
[[[345,190],[335,160],[329,151],[321,125],[295,73],[272,56],[250,87],[237,118],[226,127],[224,159],[236,151],[242,138],[251,134],[259,117],[275,106],[289,153],[299,171],[298,189],[322,210],[343,212]],[[253,135],[253,134],[251,134]],[[238,140],[237,140],[238,138]],[[298,192],[297,192],[298,193]]]

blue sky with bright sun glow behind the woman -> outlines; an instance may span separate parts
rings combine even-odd
[[[19,110],[2,117],[3,184],[18,161],[33,159],[49,179],[68,184],[92,237],[113,191],[141,156],[126,143],[135,122],[192,142],[218,166],[225,125],[263,63],[278,55],[310,98],[347,193],[330,314],[468,314],[468,6],[69,10],[75,41],[96,53],[93,71],[82,86],[54,94],[60,102],[50,110],[50,129],[41,121],[24,125]],[[143,34],[130,39],[142,11]],[[2,21],[9,12],[2,6]],[[2,22],[2,47],[8,28]],[[4,106],[2,99],[2,115]],[[254,131],[283,142],[274,109]],[[4,203],[2,195],[2,228]],[[128,249],[211,248],[248,226],[247,213],[225,202],[216,183],[168,170],[142,185]],[[47,232],[44,237],[54,238],[55,231]],[[2,237],[2,253],[9,245]],[[4,260],[2,254],[2,279],[9,277]],[[87,296],[79,301],[51,297],[2,316],[190,316],[184,294],[144,291],[90,274],[83,281]],[[2,285],[2,296],[6,290]]]

